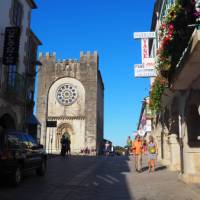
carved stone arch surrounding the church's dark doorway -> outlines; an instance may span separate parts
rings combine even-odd
[[[61,149],[61,138],[64,135],[65,137],[68,137],[72,143],[72,136],[73,136],[73,128],[70,124],[68,123],[62,123],[58,126],[57,128],[57,135],[56,135],[56,149],[60,150]]]

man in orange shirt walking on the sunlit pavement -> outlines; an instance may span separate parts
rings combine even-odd
[[[133,153],[135,155],[135,170],[137,172],[142,172],[142,141],[140,139],[140,136],[137,135],[135,137],[135,141],[132,143],[132,149]]]

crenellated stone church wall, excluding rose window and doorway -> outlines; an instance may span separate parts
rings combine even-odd
[[[42,66],[38,75],[37,101],[37,117],[42,124],[40,141],[46,144],[49,140],[46,120],[52,119],[71,124],[74,134],[80,135],[72,135],[74,149],[98,149],[103,138],[104,88],[102,79],[98,78],[100,72],[97,52],[81,52],[80,61],[57,61],[55,53],[46,53],[40,54],[40,61]],[[77,101],[69,106],[61,105],[55,95],[59,85],[64,83],[74,85],[78,91]]]

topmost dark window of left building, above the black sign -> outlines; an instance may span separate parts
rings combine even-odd
[[[15,26],[21,26],[23,7],[18,0],[14,0],[12,22]]]

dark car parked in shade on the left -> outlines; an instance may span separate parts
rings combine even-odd
[[[36,170],[44,176],[47,155],[43,145],[22,132],[7,132],[0,135],[0,175],[9,178],[12,185],[21,182],[24,172]]]

